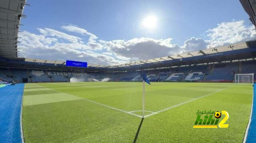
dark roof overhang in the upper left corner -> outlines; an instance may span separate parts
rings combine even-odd
[[[0,56],[18,57],[20,19],[26,0],[0,0]]]

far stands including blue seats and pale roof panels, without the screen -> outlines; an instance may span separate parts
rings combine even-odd
[[[150,81],[234,82],[236,73],[256,73],[256,41],[187,52],[117,66],[88,64],[67,67],[65,62],[30,58],[0,58],[0,79],[17,82]]]

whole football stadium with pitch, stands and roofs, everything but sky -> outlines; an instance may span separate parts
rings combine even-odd
[[[0,0],[1,143],[256,142],[255,37],[120,64],[27,58],[29,2]],[[254,0],[239,4],[255,32]]]

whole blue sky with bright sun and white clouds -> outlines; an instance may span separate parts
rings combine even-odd
[[[255,38],[239,0],[27,0],[19,56],[116,65]]]

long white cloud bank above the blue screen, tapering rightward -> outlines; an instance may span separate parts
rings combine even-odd
[[[42,60],[78,60],[90,64],[121,64],[124,61],[116,60],[111,56],[92,52],[87,45],[78,43],[61,43],[55,38],[46,38],[44,35],[36,35],[30,32],[22,32],[20,42],[20,54],[29,58]]]

